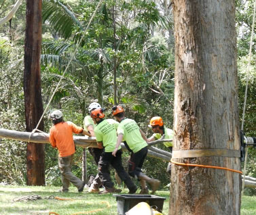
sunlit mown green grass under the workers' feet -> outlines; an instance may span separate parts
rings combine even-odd
[[[117,201],[112,194],[98,195],[88,193],[87,189],[83,193],[77,193],[75,187],[71,187],[69,193],[58,192],[59,187],[27,187],[27,186],[0,186],[0,214],[1,215],[48,215],[54,212],[59,215],[79,215],[88,214],[86,212],[95,211],[96,215],[117,214]],[[124,189],[122,194],[128,193]],[[39,199],[37,201],[16,201],[16,197],[26,195],[40,195],[47,197],[54,195],[66,200]],[[156,195],[166,197],[164,201],[163,214],[168,214],[169,191],[157,191]],[[256,197],[243,196],[241,215],[256,214]],[[108,207],[108,205],[110,207]],[[84,212],[84,213],[82,213]]]

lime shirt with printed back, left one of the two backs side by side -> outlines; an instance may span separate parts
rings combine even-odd
[[[117,141],[116,129],[119,122],[107,119],[103,120],[94,128],[94,133],[97,142],[103,142],[105,152],[111,152],[115,150],[115,144]],[[121,146],[118,148],[121,149]]]

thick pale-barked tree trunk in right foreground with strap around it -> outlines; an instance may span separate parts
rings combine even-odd
[[[234,0],[174,0],[177,150],[240,149]],[[176,162],[240,170],[240,158]],[[240,174],[172,164],[169,214],[240,214]]]

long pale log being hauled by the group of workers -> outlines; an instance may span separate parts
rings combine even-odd
[[[32,142],[32,143],[50,143],[48,133],[30,133],[17,130],[7,130],[0,128],[0,138],[14,139],[17,141]],[[97,147],[95,137],[84,137],[73,135],[75,145],[81,147]],[[124,143],[121,144],[122,149],[127,150]],[[148,156],[157,158],[166,162],[172,158],[171,153],[158,149],[157,151],[151,151],[149,149]]]

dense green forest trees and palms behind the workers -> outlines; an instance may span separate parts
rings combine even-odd
[[[107,107],[107,117],[111,117],[110,107],[114,102],[113,61],[116,57],[117,103],[125,105],[128,117],[139,122],[148,136],[151,135],[151,131],[147,124],[152,116],[162,116],[166,126],[172,128],[175,42],[171,1],[103,2],[75,53],[75,59],[61,82],[50,110],[60,108],[65,113],[65,120],[72,120],[82,126],[88,104],[97,100],[103,102]],[[12,0],[1,3],[0,17],[7,14],[13,3]],[[84,0],[43,0],[41,87],[44,107],[65,70],[75,45],[84,33],[97,3],[98,1]],[[244,95],[244,69],[248,59],[252,12],[252,0],[236,1],[240,110]],[[0,26],[0,127],[14,130],[25,130],[22,90],[25,13],[26,4],[23,3],[11,22]],[[252,64],[255,64],[254,60]],[[244,124],[248,136],[256,135],[253,126],[254,77],[252,74]],[[44,122],[45,132],[48,132],[50,122],[47,116],[44,117]],[[24,183],[25,147],[26,143],[1,139],[0,150],[3,153],[0,155],[0,181]],[[249,174],[256,177],[254,153],[250,152]],[[45,145],[46,184],[59,183],[57,163],[54,162],[56,151],[50,145]],[[155,168],[156,166],[158,168]],[[81,149],[76,153],[74,168],[81,174]],[[164,186],[169,183],[167,176],[162,174],[166,164],[149,158],[145,168],[151,176],[161,176]],[[91,156],[88,155],[88,174],[94,174],[95,170]]]

